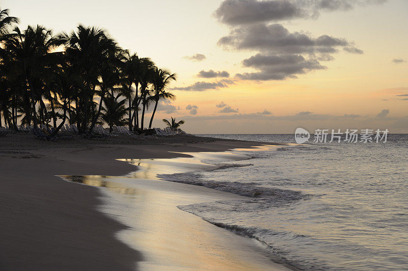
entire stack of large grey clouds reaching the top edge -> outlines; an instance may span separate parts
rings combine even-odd
[[[334,60],[332,54],[340,50],[360,55],[364,52],[345,38],[330,35],[313,37],[305,32],[290,32],[278,21],[317,18],[320,11],[350,10],[355,6],[385,2],[386,0],[225,0],[214,15],[221,23],[232,28],[217,44],[233,51],[257,51],[257,55],[243,61],[243,66],[258,71],[238,73],[237,78],[297,78],[297,74],[326,69],[320,62]],[[249,64],[251,60],[261,58],[275,61],[270,65]]]

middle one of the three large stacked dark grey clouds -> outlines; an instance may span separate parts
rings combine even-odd
[[[218,41],[218,45],[235,50],[250,49],[274,54],[298,54],[334,53],[338,51],[338,47],[349,48],[351,44],[343,38],[328,35],[314,38],[305,33],[291,33],[279,23],[270,25],[260,23],[231,30],[230,34]],[[352,51],[354,52],[355,49],[357,48]]]

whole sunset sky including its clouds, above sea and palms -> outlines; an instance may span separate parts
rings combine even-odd
[[[0,1],[55,34],[106,29],[177,73],[162,118],[191,133],[408,132],[406,0]]]

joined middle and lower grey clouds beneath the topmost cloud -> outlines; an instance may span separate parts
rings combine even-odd
[[[319,61],[333,60],[338,48],[351,53],[362,50],[343,38],[322,35],[318,38],[300,32],[289,32],[282,24],[256,24],[234,29],[218,41],[219,45],[236,49],[261,51],[243,60],[244,67],[257,72],[236,74],[245,80],[284,80],[313,70],[326,69]],[[307,56],[307,57],[306,57]]]

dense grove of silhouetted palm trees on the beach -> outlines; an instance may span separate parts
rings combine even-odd
[[[176,74],[149,58],[122,49],[106,30],[78,25],[53,34],[44,26],[20,30],[18,18],[0,9],[0,126],[52,125],[55,133],[69,122],[81,133],[95,124],[143,129],[145,114],[167,91]]]

